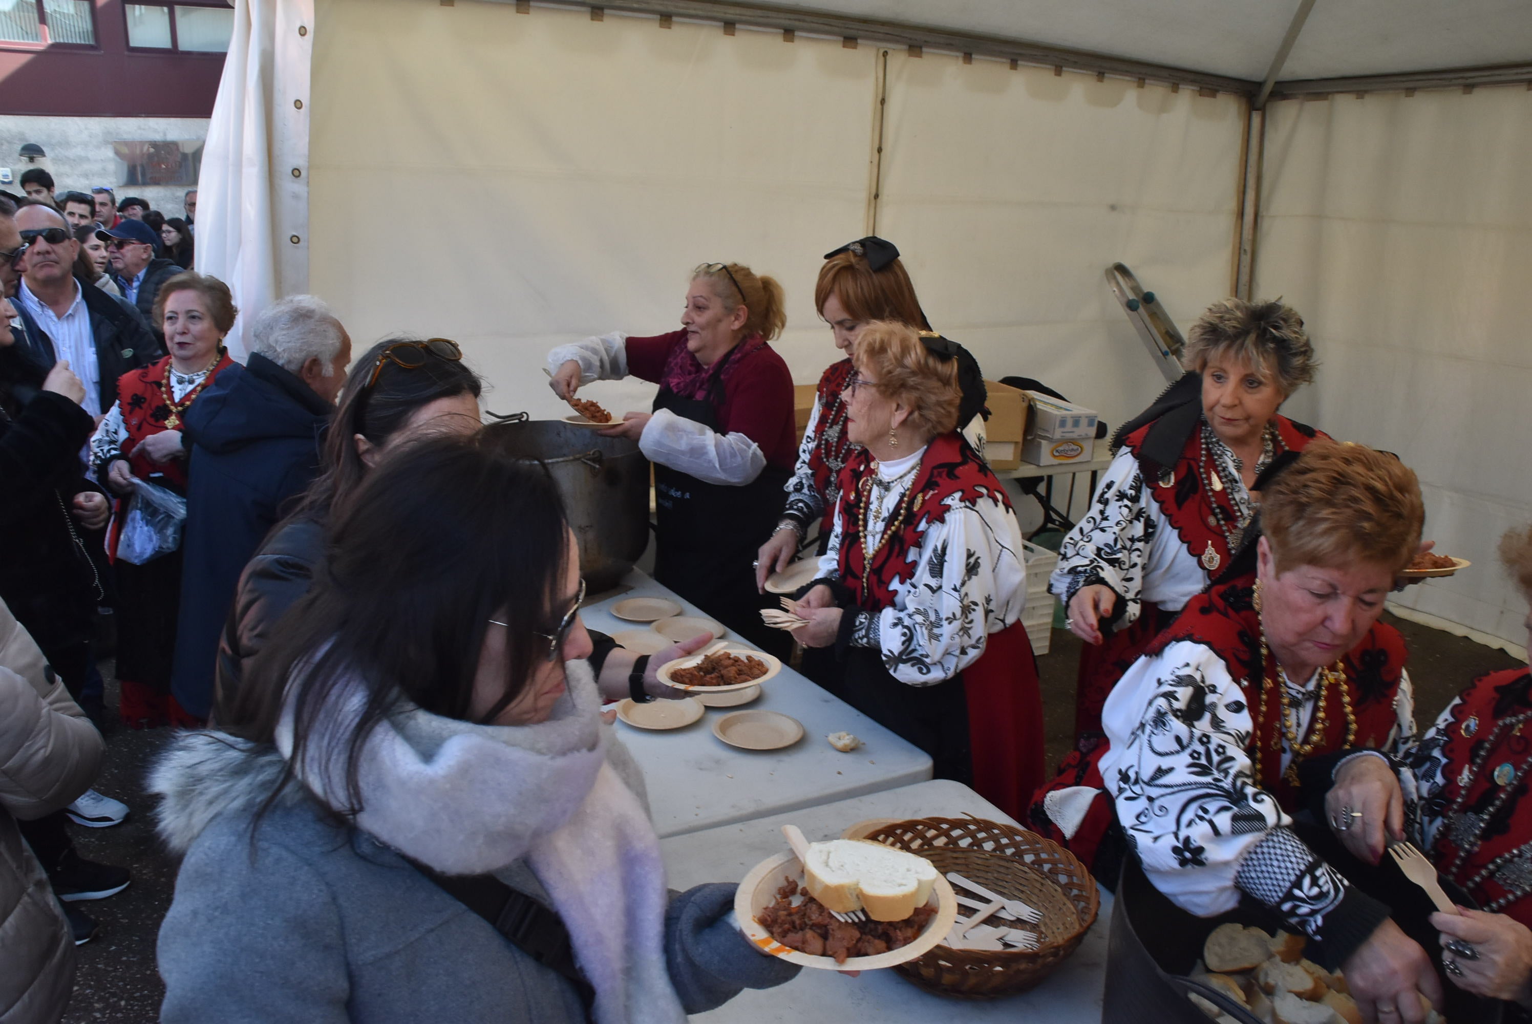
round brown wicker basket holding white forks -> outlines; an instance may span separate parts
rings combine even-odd
[[[938,946],[895,967],[919,987],[961,999],[994,999],[1031,989],[1079,946],[1100,911],[1095,878],[1074,854],[1042,835],[984,819],[927,817],[866,834],[956,871],[1010,900],[1042,911],[1036,950],[987,952]]]

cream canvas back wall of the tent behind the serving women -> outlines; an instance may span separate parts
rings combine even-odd
[[[878,48],[504,3],[316,18],[309,290],[358,343],[455,337],[489,408],[559,415],[550,345],[671,330],[691,267],[734,259],[784,285],[798,382],[835,359],[812,290],[867,230]],[[887,78],[876,225],[933,323],[990,376],[1143,408],[1163,382],[1102,271],[1183,322],[1227,293],[1242,101],[938,54]]]

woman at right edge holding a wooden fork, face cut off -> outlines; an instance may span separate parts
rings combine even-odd
[[[1500,553],[1532,599],[1532,529],[1507,532]],[[1469,684],[1402,762],[1342,763],[1325,797],[1330,826],[1353,854],[1376,862],[1408,835],[1483,907],[1431,915],[1442,966],[1460,989],[1515,1004],[1518,1019],[1532,1009],[1529,773],[1532,673],[1506,668]]]

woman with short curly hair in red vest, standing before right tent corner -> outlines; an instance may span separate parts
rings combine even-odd
[[[1256,477],[1316,435],[1276,412],[1314,371],[1291,307],[1224,299],[1187,339],[1190,371],[1117,432],[1117,457],[1049,581],[1086,642],[1075,684],[1082,754],[1100,742],[1102,704],[1123,671],[1229,567]]]

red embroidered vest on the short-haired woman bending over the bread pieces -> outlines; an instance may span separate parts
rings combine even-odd
[[[1261,779],[1256,783],[1273,794],[1284,811],[1298,809],[1298,791],[1282,777],[1282,701],[1276,690],[1276,668],[1261,664],[1261,619],[1252,604],[1255,575],[1206,590],[1192,598],[1181,615],[1144,650],[1146,658],[1160,655],[1177,641],[1203,644],[1239,681],[1250,719],[1255,722],[1252,743],[1261,743]],[[1405,668],[1405,639],[1399,630],[1374,622],[1356,647],[1340,661],[1345,687],[1356,716],[1356,748],[1379,750],[1399,722],[1394,696]],[[1275,659],[1273,659],[1275,661]],[[1261,687],[1267,687],[1265,714],[1261,714]],[[1325,688],[1325,734],[1311,754],[1328,754],[1345,747],[1345,708],[1340,694]],[[1318,708],[1314,720],[1318,720]],[[1313,737],[1305,736],[1304,743]],[[1252,751],[1253,760],[1253,751]]]

